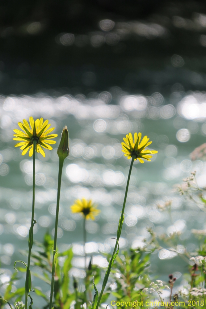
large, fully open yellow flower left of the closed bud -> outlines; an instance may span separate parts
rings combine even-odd
[[[16,134],[14,134],[15,138],[13,139],[15,141],[22,141],[20,143],[17,143],[15,147],[21,146],[20,149],[23,150],[22,155],[25,155],[29,150],[29,148],[31,148],[29,150],[29,157],[31,157],[33,155],[34,150],[33,143],[34,141],[36,141],[36,152],[40,152],[40,154],[43,155],[43,157],[45,157],[45,152],[42,149],[42,147],[48,150],[52,150],[53,149],[52,146],[48,144],[56,144],[55,141],[51,141],[50,139],[57,137],[57,134],[47,135],[50,132],[52,132],[55,128],[49,129],[50,124],[48,124],[48,120],[45,120],[43,123],[43,118],[36,119],[36,121],[34,121],[33,117],[29,117],[29,123],[31,128],[26,119],[23,119],[23,123],[18,122],[19,127],[24,132],[18,129],[14,129],[14,132]]]

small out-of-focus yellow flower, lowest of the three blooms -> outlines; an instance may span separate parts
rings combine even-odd
[[[95,217],[100,213],[99,209],[96,209],[92,200],[87,201],[85,198],[82,200],[74,201],[74,205],[71,206],[72,213],[81,213],[86,220],[95,220]]]

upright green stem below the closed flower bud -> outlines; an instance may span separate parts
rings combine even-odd
[[[60,200],[61,175],[62,175],[63,164],[64,164],[64,158],[59,157],[59,175],[58,175],[58,186],[57,186],[57,209],[56,209],[56,218],[55,218],[54,251],[53,251],[53,262],[52,262],[52,282],[51,282],[49,309],[52,309],[53,292],[54,292],[54,276],[55,276],[55,263],[54,263],[55,259],[54,259],[54,256],[55,256],[56,249],[57,249],[57,228],[58,228],[58,218],[59,218],[59,200]]]

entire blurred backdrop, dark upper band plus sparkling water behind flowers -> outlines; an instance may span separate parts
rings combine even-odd
[[[158,150],[151,162],[135,161],[120,248],[143,246],[149,237],[181,232],[179,252],[195,251],[192,229],[205,230],[205,213],[177,193],[197,171],[206,186],[206,164],[190,153],[206,137],[206,5],[201,1],[53,1],[1,5],[0,28],[0,260],[3,284],[15,260],[24,259],[32,206],[32,159],[14,148],[13,129],[33,116],[49,119],[57,146],[69,130],[58,231],[60,251],[73,246],[70,275],[83,277],[82,217],[71,214],[77,198],[101,210],[87,222],[88,255],[114,245],[130,160],[123,137],[142,132]],[[57,148],[36,159],[34,238],[53,234],[57,195]],[[157,208],[172,200],[172,220]],[[187,264],[170,248],[152,255],[151,273],[167,280]],[[36,268],[36,272],[41,269]],[[178,273],[177,273],[178,272]],[[22,281],[23,282],[23,281]],[[44,291],[39,280],[32,281]],[[22,283],[23,284],[23,283]]]

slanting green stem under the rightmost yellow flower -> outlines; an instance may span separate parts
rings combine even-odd
[[[120,239],[121,230],[122,230],[122,224],[123,224],[123,221],[124,221],[124,208],[125,208],[125,204],[126,204],[126,200],[127,200],[127,193],[128,193],[128,188],[129,188],[129,180],[130,180],[130,176],[131,176],[132,165],[133,165],[133,163],[134,163],[134,159],[135,159],[135,156],[132,156],[132,161],[131,161],[131,164],[130,164],[128,179],[127,179],[127,186],[126,186],[125,195],[124,195],[124,202],[123,202],[123,206],[122,206],[122,214],[121,214],[120,222],[119,222],[120,230],[119,230],[119,227],[118,227],[118,231],[117,231],[117,240],[116,240],[115,248],[114,248],[114,251],[113,251],[113,253],[112,253],[112,256],[111,256],[111,260],[110,260],[110,262],[109,262],[109,265],[108,265],[108,267],[107,267],[107,271],[106,271],[105,276],[104,276],[104,280],[103,280],[103,284],[102,284],[102,290],[101,290],[101,292],[100,292],[100,294],[99,294],[99,298],[98,298],[97,305],[96,305],[96,307],[95,307],[94,309],[98,309],[99,304],[100,304],[100,302],[101,302],[101,298],[102,298],[102,295],[103,295],[105,286],[106,286],[106,284],[107,284],[109,274],[110,274],[110,272],[111,272],[111,267],[112,267],[112,264],[113,264],[113,257],[114,257],[114,255],[115,255],[115,253],[116,253],[118,241],[119,241],[119,239]]]

